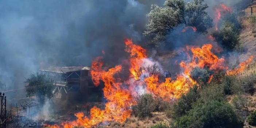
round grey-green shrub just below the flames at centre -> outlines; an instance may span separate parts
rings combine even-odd
[[[151,94],[143,94],[136,98],[137,105],[132,106],[133,115],[139,118],[151,117],[156,109],[156,102]]]

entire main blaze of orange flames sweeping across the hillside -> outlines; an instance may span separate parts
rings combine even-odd
[[[144,73],[142,67],[147,63],[147,61],[145,61],[145,59],[147,59],[146,50],[141,46],[133,44],[132,40],[129,39],[125,40],[125,45],[125,51],[130,53],[130,76],[128,80],[123,80],[117,75],[117,73],[121,73],[122,71],[121,65],[103,70],[104,62],[102,61],[102,57],[97,57],[92,62],[90,74],[94,85],[98,86],[100,81],[105,85],[103,88],[103,94],[107,100],[105,109],[102,110],[94,106],[90,109],[90,116],[85,116],[84,113],[79,112],[75,113],[77,120],[64,122],[61,126],[45,126],[50,128],[73,128],[81,126],[89,128],[108,121],[118,121],[122,123],[131,116],[131,106],[136,105],[134,90],[131,88],[145,86],[147,93],[151,93],[163,100],[171,101],[180,98],[182,94],[186,94],[193,85],[197,84],[190,76],[190,72],[195,67],[201,69],[207,67],[214,72],[228,69],[224,63],[225,59],[218,58],[212,53],[212,44],[205,44],[202,47],[186,47],[187,61],[181,61],[181,63],[179,63],[183,72],[177,75],[177,78],[173,80],[171,78],[165,78],[162,80],[158,74],[148,75],[146,78],[143,78],[141,77]],[[192,54],[191,57],[190,54]],[[233,74],[244,70],[246,65],[252,62],[252,59],[251,57],[241,63],[239,69],[228,71],[227,73]],[[210,82],[212,78],[213,75],[210,76],[208,82]],[[130,80],[136,84],[128,82]]]

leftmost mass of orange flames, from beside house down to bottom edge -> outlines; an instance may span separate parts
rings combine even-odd
[[[102,57],[96,58],[92,63],[90,71],[92,80],[96,86],[102,80],[105,84],[103,88],[104,97],[108,100],[105,104],[105,109],[101,110],[95,106],[90,110],[90,117],[84,116],[84,113],[76,113],[77,120],[72,122],[63,123],[64,128],[85,127],[89,128],[105,121],[118,121],[123,122],[127,117],[131,116],[130,107],[135,104],[128,89],[122,87],[120,78],[115,78],[115,74],[122,69],[121,65],[117,65],[108,71],[102,70],[103,62]],[[58,128],[53,125],[50,128]]]

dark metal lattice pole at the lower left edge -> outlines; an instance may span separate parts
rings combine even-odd
[[[6,96],[4,93],[0,93],[0,101],[1,101],[1,115],[0,115],[0,128],[6,128]]]

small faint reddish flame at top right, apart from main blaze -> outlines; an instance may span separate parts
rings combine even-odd
[[[218,30],[218,22],[223,17],[223,14],[225,13],[232,13],[232,8],[226,6],[225,4],[221,3],[218,7],[215,8],[216,16],[214,19],[215,22],[215,28]]]

